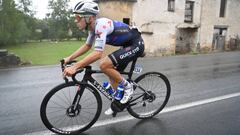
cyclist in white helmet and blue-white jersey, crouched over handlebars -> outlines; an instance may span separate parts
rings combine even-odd
[[[124,87],[124,95],[120,102],[127,103],[133,93],[133,86],[118,71],[123,71],[130,61],[144,52],[144,42],[140,32],[116,20],[97,18],[99,6],[91,0],[80,1],[75,6],[73,13],[77,27],[81,30],[88,30],[88,37],[85,45],[64,59],[65,63],[87,52],[95,41],[94,51],[73,66],[66,68],[63,75],[71,76],[77,69],[101,59],[100,70],[109,77],[113,90],[116,90],[119,84]],[[121,48],[107,57],[101,58],[105,44]],[[111,107],[105,111],[106,115],[112,113]]]

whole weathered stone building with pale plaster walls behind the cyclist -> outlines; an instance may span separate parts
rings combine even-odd
[[[100,16],[137,26],[149,55],[229,49],[240,0],[99,0]]]

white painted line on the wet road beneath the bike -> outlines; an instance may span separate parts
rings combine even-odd
[[[186,104],[182,104],[182,105],[166,107],[165,109],[163,109],[160,112],[160,114],[179,111],[179,110],[183,110],[183,109],[188,109],[188,108],[191,108],[191,107],[205,105],[205,104],[209,104],[209,103],[213,103],[213,102],[217,102],[217,101],[221,101],[221,100],[225,100],[225,99],[229,99],[229,98],[234,98],[234,97],[238,97],[238,96],[240,96],[240,92],[233,93],[233,94],[228,94],[228,95],[224,95],[224,96],[219,96],[219,97],[215,97],[215,98],[200,100],[200,101],[196,101],[196,102],[186,103]],[[115,123],[124,122],[124,121],[129,121],[129,120],[133,120],[133,119],[135,119],[135,118],[130,116],[130,115],[121,116],[121,117],[111,118],[111,119],[108,119],[108,120],[98,121],[92,127],[106,126],[106,125],[115,124]],[[34,133],[30,133],[30,134],[25,134],[25,135],[40,135],[40,134],[41,135],[51,135],[53,133],[51,133],[50,131],[42,131],[42,132],[34,132]]]

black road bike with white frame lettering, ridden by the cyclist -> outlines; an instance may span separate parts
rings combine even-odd
[[[128,76],[127,80],[134,88],[132,98],[126,104],[115,100],[114,96],[92,77],[92,74],[103,72],[86,66],[78,70],[71,77],[72,80],[65,77],[64,83],[46,94],[40,108],[42,122],[50,131],[57,134],[80,134],[98,120],[102,111],[100,94],[111,102],[113,117],[124,110],[138,119],[148,119],[157,115],[169,100],[171,91],[169,80],[159,72],[147,72],[133,80],[133,73],[142,70],[135,67],[136,62],[137,59],[132,61],[129,72],[120,72]],[[72,64],[73,62],[70,62],[65,65],[62,60],[62,71]],[[83,75],[80,81],[77,79],[79,74]]]

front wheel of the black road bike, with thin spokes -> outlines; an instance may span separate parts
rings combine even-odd
[[[81,99],[73,104],[79,90],[83,90]],[[47,93],[41,104],[40,115],[44,125],[54,133],[79,134],[97,121],[101,110],[102,100],[94,87],[69,82]]]

